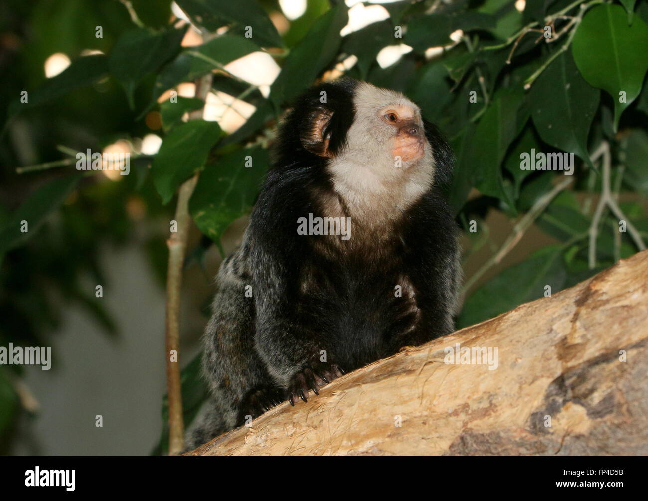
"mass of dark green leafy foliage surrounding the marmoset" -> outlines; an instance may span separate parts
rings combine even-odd
[[[596,228],[596,262],[588,261],[603,176],[601,158],[592,164],[590,155],[602,141],[610,149],[612,193],[627,222],[648,241],[647,0],[527,0],[524,12],[510,0],[401,1],[386,5],[389,19],[345,37],[340,30],[349,12],[341,0],[332,7],[326,0],[309,1],[305,14],[281,35],[270,21],[270,14],[281,15],[272,1],[177,3],[194,25],[212,34],[226,26],[227,32],[181,47],[187,27],[177,19],[170,23],[168,0],[134,0],[132,13],[105,0],[41,0],[31,9],[12,0],[10,9],[0,7],[3,31],[25,40],[0,62],[6,73],[0,110],[7,118],[0,158],[11,167],[65,164],[57,168],[62,175],[42,165],[31,169],[36,173],[1,171],[0,316],[10,319],[0,329],[2,344],[35,342],[56,327],[56,298],[43,283],[113,331],[110,317],[80,285],[82,278],[101,276],[100,244],[128,238],[137,207],[148,226],[168,228],[168,202],[194,174],[199,178],[189,208],[205,238],[188,250],[187,262],[202,260],[206,237],[220,246],[227,226],[254,203],[277,119],[303,89],[352,55],[358,62],[349,76],[403,91],[448,136],[456,156],[448,197],[470,237],[466,256],[481,254],[487,261],[500,250],[501,239],[492,239],[485,224],[493,213],[517,223],[528,220],[525,228],[535,224],[554,242],[485,282],[468,275],[460,326],[543,297],[548,287],[555,294],[638,250],[640,242],[619,232],[619,218],[606,210]],[[26,26],[32,34],[25,34]],[[95,37],[97,26],[103,38]],[[463,38],[450,37],[456,30]],[[376,55],[401,43],[412,50],[380,67]],[[430,47],[437,49],[426,58]],[[82,55],[84,49],[104,54]],[[224,70],[258,51],[272,54],[281,67],[270,93]],[[54,52],[64,52],[72,63],[45,79],[43,63]],[[185,123],[185,113],[200,108],[201,100],[168,97],[178,84],[210,72],[214,90],[256,107],[233,134],[217,122]],[[28,91],[27,102],[20,101],[21,91]],[[117,139],[135,144],[150,132],[163,137],[157,154],[135,152],[131,174],[114,183],[97,173],[80,176],[73,157],[56,150],[65,145],[100,151]],[[30,154],[17,146],[17,134]],[[548,194],[566,178],[562,172],[520,169],[521,156],[532,150],[574,154],[573,182],[553,198]],[[29,233],[20,231],[23,220]],[[167,236],[152,231],[144,249],[160,283]],[[196,359],[183,371],[185,425],[205,395],[198,367]],[[19,404],[9,371],[0,369],[1,435]],[[165,433],[158,453],[166,447]]]

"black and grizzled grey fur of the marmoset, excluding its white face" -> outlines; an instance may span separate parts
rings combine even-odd
[[[189,447],[242,425],[289,395],[305,396],[341,371],[352,371],[452,332],[459,265],[456,225],[437,187],[447,183],[452,152],[431,124],[435,182],[388,238],[356,229],[348,247],[322,236],[297,235],[297,218],[321,213],[318,194],[331,194],[326,157],[303,136],[326,107],[329,149],[346,147],[356,82],[308,90],[279,131],[275,163],[253,209],[242,246],[218,273],[213,316],[204,336],[203,369],[213,398]],[[327,91],[329,102],[319,103]],[[314,146],[315,148],[317,146]],[[358,240],[360,239],[360,240]],[[253,297],[245,297],[251,285]],[[395,297],[395,285],[402,297]],[[320,353],[326,351],[327,361]]]

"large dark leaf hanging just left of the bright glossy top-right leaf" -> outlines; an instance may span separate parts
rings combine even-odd
[[[558,56],[531,87],[531,117],[542,140],[590,163],[587,135],[599,94],[585,82],[571,54]]]

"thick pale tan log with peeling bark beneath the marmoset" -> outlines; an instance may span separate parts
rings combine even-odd
[[[648,454],[647,339],[643,251],[552,297],[358,369],[190,454]],[[497,369],[446,364],[444,350],[456,343],[497,347]]]

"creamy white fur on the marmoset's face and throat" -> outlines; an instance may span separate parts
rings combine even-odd
[[[401,93],[366,82],[356,87],[354,106],[347,147],[329,160],[334,189],[351,216],[367,223],[395,219],[428,191],[434,180],[434,157],[424,137],[421,111]],[[399,135],[395,118],[400,124],[419,128],[422,140],[417,146],[410,146],[411,139],[405,141]],[[405,149],[398,149],[402,145]],[[400,154],[400,167],[396,154]]]

